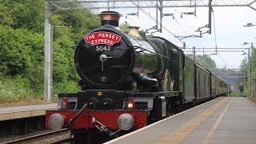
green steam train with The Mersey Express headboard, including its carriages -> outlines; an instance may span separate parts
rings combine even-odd
[[[74,143],[93,143],[95,134],[116,137],[229,92],[228,83],[165,38],[136,26],[122,32],[118,12],[98,15],[102,26],[75,47],[82,90],[58,94],[57,110],[46,111],[47,128],[69,128]]]

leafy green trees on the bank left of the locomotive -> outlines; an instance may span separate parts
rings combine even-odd
[[[0,0],[0,73],[29,79],[30,88],[39,93],[44,82],[44,2]],[[51,24],[67,26],[54,28],[55,92],[69,86],[74,90],[79,78],[70,46],[100,26],[99,18],[90,10],[60,10],[51,15]]]

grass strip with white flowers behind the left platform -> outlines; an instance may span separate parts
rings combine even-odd
[[[43,85],[42,85],[43,86]],[[77,82],[54,83],[54,102],[59,93],[76,93],[79,89]],[[21,76],[6,77],[0,73],[0,106],[27,105],[44,103],[42,91],[30,88],[30,81]]]

